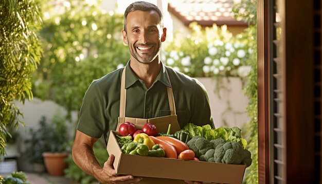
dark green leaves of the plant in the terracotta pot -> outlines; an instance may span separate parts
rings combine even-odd
[[[28,149],[25,154],[32,163],[43,163],[43,152],[65,152],[68,140],[65,119],[56,114],[50,123],[45,116],[40,121],[40,127],[30,128],[31,138],[26,140]]]

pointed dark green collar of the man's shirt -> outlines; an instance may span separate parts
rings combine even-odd
[[[128,64],[125,67],[125,73],[126,73],[125,88],[127,89],[131,85],[133,85],[136,81],[138,81],[139,79],[132,71],[132,69],[130,67],[130,61],[128,62]],[[157,76],[157,80],[162,82],[164,85],[171,87],[171,83],[170,83],[170,80],[167,75],[166,67],[164,66],[164,64],[162,62],[161,62],[161,69],[160,69],[159,75]]]

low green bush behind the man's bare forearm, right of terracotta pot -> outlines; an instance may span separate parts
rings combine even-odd
[[[73,144],[73,142],[70,142],[70,146]],[[98,141],[94,144],[94,154],[100,163],[100,165],[104,165],[104,162],[108,160],[109,154],[106,151],[105,143],[102,143],[102,141]],[[65,177],[70,178],[74,181],[80,182],[82,184],[92,183],[96,182],[96,179],[92,176],[87,175],[85,172],[83,172],[73,161],[73,158],[71,157],[71,154],[68,155],[68,157],[65,160],[68,164],[68,168],[65,169]]]

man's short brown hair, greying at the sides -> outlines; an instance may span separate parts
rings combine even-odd
[[[131,5],[129,5],[128,8],[124,12],[123,24],[124,24],[124,31],[125,32],[127,32],[126,25],[127,25],[128,14],[130,12],[133,12],[133,11],[136,11],[136,10],[140,10],[140,11],[155,10],[157,12],[157,14],[159,14],[159,16],[160,16],[159,24],[160,24],[161,28],[163,28],[163,15],[162,15],[161,10],[156,5],[154,5],[152,3],[148,3],[148,2],[144,2],[144,1],[138,1],[138,2],[134,2]]]

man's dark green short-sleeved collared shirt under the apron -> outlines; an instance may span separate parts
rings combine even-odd
[[[170,115],[167,86],[172,87],[178,122],[214,127],[209,100],[204,86],[196,79],[162,65],[154,82],[147,89],[145,84],[126,67],[127,104],[126,117],[155,118]],[[170,81],[165,73],[168,71]],[[88,87],[80,110],[77,130],[88,136],[100,138],[103,133],[115,130],[120,107],[120,85],[123,68],[94,80]]]

